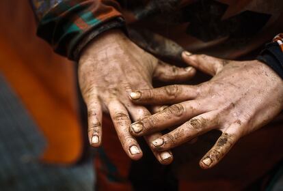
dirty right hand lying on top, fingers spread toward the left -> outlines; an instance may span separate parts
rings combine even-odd
[[[172,104],[131,125],[142,136],[165,128],[178,128],[152,141],[155,151],[165,151],[210,130],[222,135],[200,160],[204,169],[215,166],[239,138],[271,121],[283,107],[283,80],[260,61],[228,61],[207,55],[183,53],[183,59],[213,78],[200,85],[170,85],[134,91],[136,104]]]

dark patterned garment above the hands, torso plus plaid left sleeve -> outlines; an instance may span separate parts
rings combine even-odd
[[[31,3],[39,18],[38,35],[57,53],[70,59],[78,59],[88,42],[114,27],[135,27],[137,32],[146,29],[146,38],[159,34],[163,40],[169,38],[194,53],[228,59],[250,53],[283,30],[281,0],[31,0]],[[135,40],[135,36],[130,38]],[[149,50],[159,51],[156,54],[161,57],[165,54],[160,52],[165,44],[162,38]]]

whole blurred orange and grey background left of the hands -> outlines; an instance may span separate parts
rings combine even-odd
[[[75,63],[36,37],[28,0],[0,9],[0,190],[94,190]]]

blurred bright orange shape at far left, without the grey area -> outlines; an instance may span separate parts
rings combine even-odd
[[[83,151],[74,64],[36,37],[29,1],[0,1],[0,72],[47,139],[46,162],[70,164]]]

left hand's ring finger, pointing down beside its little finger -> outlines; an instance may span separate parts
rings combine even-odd
[[[108,109],[124,151],[131,159],[139,160],[142,158],[142,149],[129,132],[131,119],[126,108],[118,100],[112,100]]]

